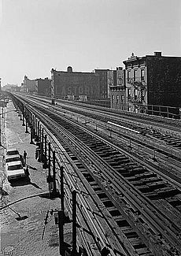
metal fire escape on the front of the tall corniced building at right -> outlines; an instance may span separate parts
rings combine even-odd
[[[134,77],[127,79],[127,83],[131,84],[131,94],[128,96],[127,100],[135,109],[138,109],[139,113],[144,113],[146,109],[146,82],[144,77]],[[137,95],[135,95],[137,91]]]

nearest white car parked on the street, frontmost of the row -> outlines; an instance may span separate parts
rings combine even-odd
[[[6,163],[6,176],[9,181],[27,177],[21,161],[9,161]]]

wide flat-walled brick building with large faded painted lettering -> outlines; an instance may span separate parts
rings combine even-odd
[[[51,70],[52,96],[58,98],[100,98],[99,76],[94,72],[73,72],[68,67],[67,72]]]

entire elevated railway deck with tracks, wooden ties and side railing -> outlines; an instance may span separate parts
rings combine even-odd
[[[41,141],[42,155],[46,155],[45,135],[51,143],[56,154],[57,186],[60,186],[60,165],[64,166],[70,211],[71,191],[76,190],[79,195],[79,243],[88,255],[101,255],[104,247],[109,248],[111,255],[181,254],[178,147],[169,146],[172,152],[177,152],[174,158],[166,150],[168,145],[160,143],[161,163],[146,158],[135,147],[139,136],[149,154],[151,148],[146,145],[153,138],[147,138],[145,131],[142,135],[139,129],[115,122],[116,117],[113,122],[109,116],[105,122],[98,117],[83,117],[76,107],[72,113],[63,104],[50,106],[35,98],[12,97],[31,134]],[[168,124],[163,125],[168,129]],[[127,145],[131,135],[131,145]],[[168,153],[172,159],[168,165],[174,172],[164,168]]]

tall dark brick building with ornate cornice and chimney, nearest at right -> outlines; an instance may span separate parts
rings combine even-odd
[[[131,54],[123,63],[127,110],[142,113],[149,105],[181,106],[181,57]]]

